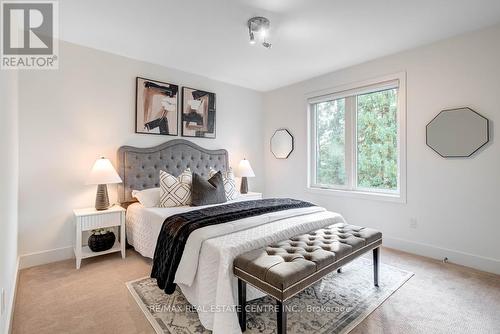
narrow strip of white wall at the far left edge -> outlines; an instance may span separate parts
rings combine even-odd
[[[0,333],[7,333],[17,277],[18,77],[0,71],[0,289],[5,289],[5,312]]]

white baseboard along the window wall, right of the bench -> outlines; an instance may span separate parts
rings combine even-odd
[[[465,253],[453,249],[436,247],[420,242],[393,238],[390,236],[384,236],[383,239],[384,246],[389,248],[395,248],[408,253],[422,255],[437,260],[443,260],[447,257],[448,262],[450,263],[500,275],[500,260],[497,259]]]

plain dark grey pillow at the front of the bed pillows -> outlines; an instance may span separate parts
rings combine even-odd
[[[227,199],[221,172],[217,172],[208,180],[197,173],[193,173],[193,183],[191,186],[192,206],[225,202],[227,202]]]

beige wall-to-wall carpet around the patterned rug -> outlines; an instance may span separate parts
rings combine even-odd
[[[415,273],[351,334],[498,333],[500,276],[390,249],[382,262]],[[154,333],[125,282],[147,276],[133,250],[22,270],[13,333]]]

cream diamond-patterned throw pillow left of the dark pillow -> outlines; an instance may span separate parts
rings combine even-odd
[[[160,170],[160,208],[191,204],[192,179],[189,168],[178,177]]]

